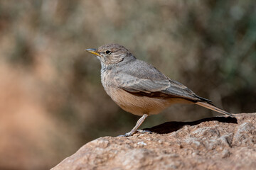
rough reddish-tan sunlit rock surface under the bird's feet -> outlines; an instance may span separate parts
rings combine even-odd
[[[60,162],[68,169],[256,169],[256,113],[169,122],[132,137],[100,137]]]

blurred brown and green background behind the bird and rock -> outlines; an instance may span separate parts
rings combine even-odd
[[[105,93],[87,48],[115,42],[230,113],[256,111],[253,0],[0,1],[0,169],[50,169],[139,117]],[[146,119],[220,115],[176,105]]]

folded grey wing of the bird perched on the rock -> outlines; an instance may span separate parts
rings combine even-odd
[[[122,70],[119,72],[119,76],[115,78],[119,88],[125,91],[143,96],[186,98],[191,101],[202,100],[186,86],[169,79],[146,62],[140,61],[140,64],[135,64],[130,68],[132,69]]]

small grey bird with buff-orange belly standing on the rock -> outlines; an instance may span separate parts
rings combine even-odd
[[[122,45],[112,43],[85,51],[100,60],[102,86],[112,100],[124,111],[142,116],[124,137],[134,135],[149,115],[159,114],[174,103],[193,103],[234,117],[151,64],[138,60]]]

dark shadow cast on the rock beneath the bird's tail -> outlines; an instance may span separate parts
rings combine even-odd
[[[220,123],[235,123],[238,124],[238,120],[232,117],[213,117],[213,118],[203,118],[201,120],[196,120],[193,122],[166,122],[161,125],[156,125],[152,128],[145,128],[143,130],[149,130],[151,132],[156,132],[159,134],[166,134],[174,132],[181,129],[184,125],[198,125],[203,122],[218,121]]]

